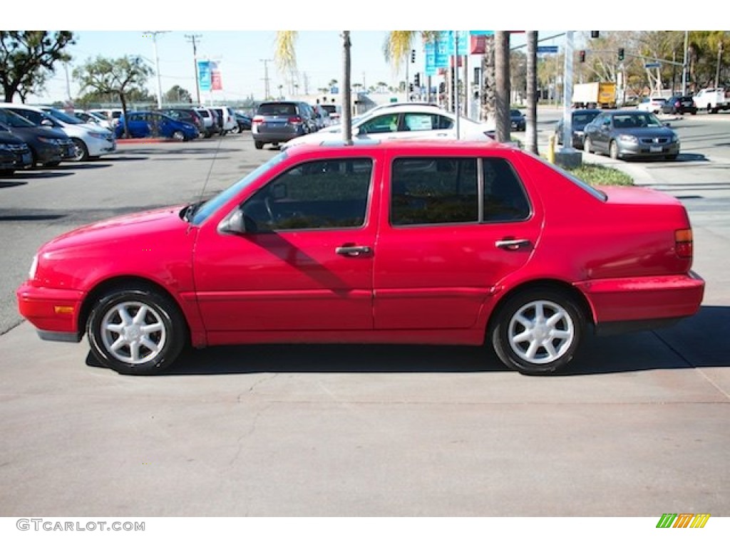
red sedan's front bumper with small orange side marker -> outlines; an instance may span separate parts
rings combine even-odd
[[[78,290],[34,287],[28,282],[16,292],[18,311],[44,340],[79,341],[79,316],[85,293]]]

